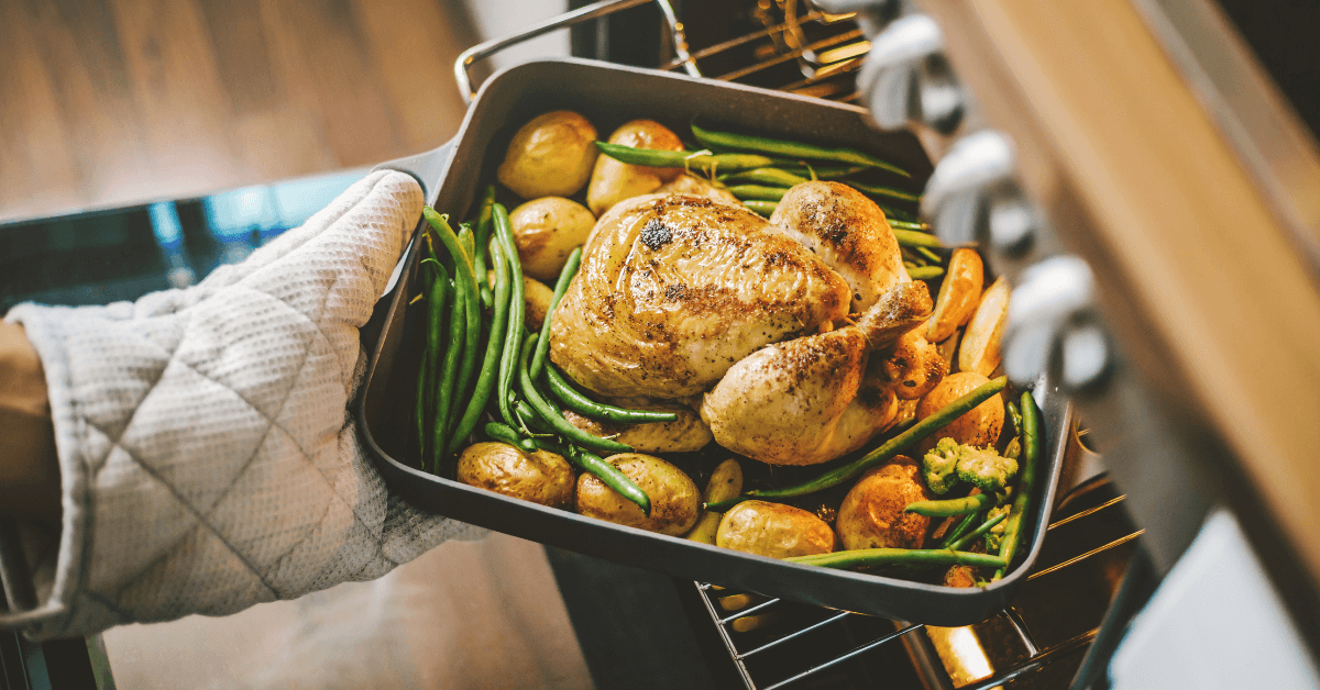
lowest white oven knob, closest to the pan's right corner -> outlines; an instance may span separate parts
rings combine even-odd
[[[1071,393],[1104,383],[1113,348],[1094,305],[1094,276],[1076,256],[1053,256],[1023,270],[1001,343],[1008,380],[1028,385],[1055,371]]]

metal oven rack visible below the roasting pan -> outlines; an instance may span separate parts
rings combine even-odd
[[[1101,479],[1101,486],[1106,486],[1107,480]],[[1113,499],[1105,500],[1104,503],[1086,508],[1084,511],[1067,515],[1055,520],[1049,524],[1048,530],[1053,532],[1056,528],[1074,522],[1078,520],[1085,520],[1093,517],[1096,520],[1114,517],[1115,513],[1122,512],[1122,501],[1125,495],[1118,495]],[[1107,512],[1107,513],[1106,513]],[[1041,563],[1035,570],[1032,570],[1027,582],[1036,580],[1045,575],[1065,573],[1069,569],[1076,569],[1081,563],[1094,559],[1101,555],[1114,557],[1115,561],[1122,562],[1123,566],[1127,563],[1126,554],[1118,554],[1115,550],[1134,542],[1142,534],[1142,529],[1123,530],[1125,534],[1117,536],[1104,545],[1089,549],[1084,553],[1071,555],[1064,558],[1057,563]],[[1048,540],[1048,537],[1047,537]],[[1048,544],[1048,541],[1047,541]],[[863,656],[874,654],[887,646],[892,646],[895,643],[902,643],[906,648],[907,654],[915,662],[917,670],[924,675],[924,682],[927,687],[937,687],[940,690],[987,690],[990,687],[1002,686],[1010,681],[1018,679],[1030,674],[1032,672],[1043,670],[1045,666],[1067,660],[1074,658],[1085,653],[1086,649],[1096,640],[1101,625],[1096,625],[1088,631],[1072,635],[1067,639],[1051,641],[1048,644],[1041,644],[1038,640],[1038,635],[1034,633],[1031,625],[1024,620],[1024,616],[1016,606],[1010,604],[1002,610],[998,616],[1007,623],[1011,632],[1016,635],[1018,643],[1026,650],[1026,656],[1014,661],[1010,665],[995,669],[991,674],[982,678],[977,678],[972,682],[956,686],[950,679],[949,674],[944,670],[940,658],[935,653],[929,639],[923,635],[911,635],[913,632],[925,628],[924,624],[909,624],[903,621],[884,621],[884,619],[878,619],[873,616],[866,616],[863,613],[854,613],[850,611],[834,611],[826,608],[816,608],[814,616],[808,616],[808,620],[799,621],[793,625],[783,625],[783,629],[777,629],[776,624],[771,624],[766,633],[759,636],[760,639],[752,643],[743,643],[747,637],[746,632],[738,629],[739,621],[751,620],[764,620],[768,615],[788,608],[793,610],[793,616],[797,619],[803,617],[803,612],[810,611],[814,607],[808,607],[805,604],[799,604],[795,602],[788,602],[784,599],[774,598],[767,599],[746,608],[726,612],[722,611],[719,604],[721,598],[737,596],[743,592],[735,592],[730,590],[721,590],[709,583],[693,583],[705,604],[706,612],[710,616],[711,623],[719,633],[721,641],[725,644],[725,649],[729,652],[734,666],[738,670],[743,683],[748,690],[779,690],[785,687],[801,687],[803,682],[814,679],[824,672],[836,669],[850,661],[861,660]],[[1117,595],[1121,596],[1121,595]],[[1115,599],[1117,599],[1115,596]],[[787,617],[787,616],[785,616]],[[995,616],[991,616],[995,617]],[[814,658],[808,664],[803,665],[796,670],[789,672],[787,675],[780,675],[775,678],[760,678],[766,673],[758,673],[755,669],[750,668],[748,660],[754,660],[764,653],[772,652],[780,657],[787,658],[797,656],[797,649],[795,645],[808,644],[808,640],[813,635],[820,635],[832,627],[846,625],[849,621],[866,619],[869,627],[863,629],[873,629],[874,632],[865,639],[854,643],[847,649],[832,654],[826,658]],[[882,624],[887,623],[887,625]],[[764,629],[764,628],[763,628]],[[857,627],[851,631],[853,636],[857,635]],[[809,654],[801,654],[809,657]],[[879,685],[878,687],[891,687],[886,685]]]

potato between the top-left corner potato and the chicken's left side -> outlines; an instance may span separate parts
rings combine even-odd
[[[582,247],[595,216],[581,203],[562,197],[529,201],[508,216],[523,273],[554,282],[573,249]]]

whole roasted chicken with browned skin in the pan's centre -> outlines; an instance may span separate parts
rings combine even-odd
[[[909,332],[931,311],[884,214],[846,185],[797,185],[770,222],[651,194],[597,222],[550,358],[597,396],[698,409],[730,450],[816,464],[865,445],[946,373]]]

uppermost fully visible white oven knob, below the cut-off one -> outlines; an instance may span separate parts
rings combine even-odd
[[[895,20],[875,36],[857,83],[880,129],[921,123],[949,135],[962,123],[962,88],[944,58],[944,34],[925,15]]]

